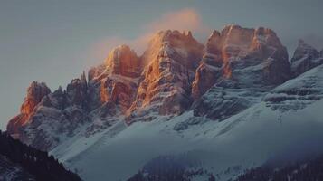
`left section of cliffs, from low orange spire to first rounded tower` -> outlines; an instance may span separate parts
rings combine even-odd
[[[83,72],[66,90],[52,93],[44,83],[33,82],[7,131],[34,148],[50,150],[80,129],[85,135],[105,129],[130,107],[141,70],[136,53],[122,45],[89,71],[89,82]]]

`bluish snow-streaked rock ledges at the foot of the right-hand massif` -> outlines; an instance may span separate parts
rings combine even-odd
[[[260,102],[268,90],[267,87],[237,88],[236,82],[224,79],[194,102],[194,115],[222,121]]]

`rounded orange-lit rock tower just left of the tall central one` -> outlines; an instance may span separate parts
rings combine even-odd
[[[123,112],[128,110],[138,88],[142,66],[137,54],[127,45],[116,47],[103,65],[89,71],[90,97],[99,95],[100,104],[112,102]]]

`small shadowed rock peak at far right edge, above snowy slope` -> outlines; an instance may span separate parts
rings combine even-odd
[[[297,77],[322,63],[323,58],[320,53],[303,40],[299,40],[299,45],[291,58],[292,76]]]

